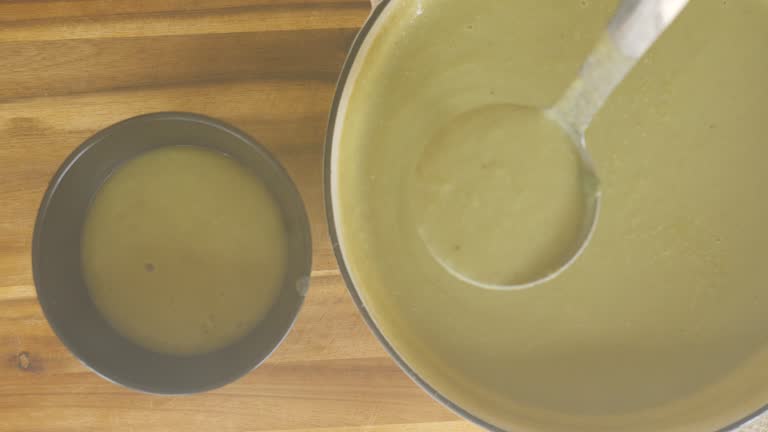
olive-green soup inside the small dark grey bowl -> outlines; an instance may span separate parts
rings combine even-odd
[[[223,348],[269,312],[286,239],[264,183],[237,161],[192,146],[126,162],[94,197],[83,274],[112,326],[152,351]]]

